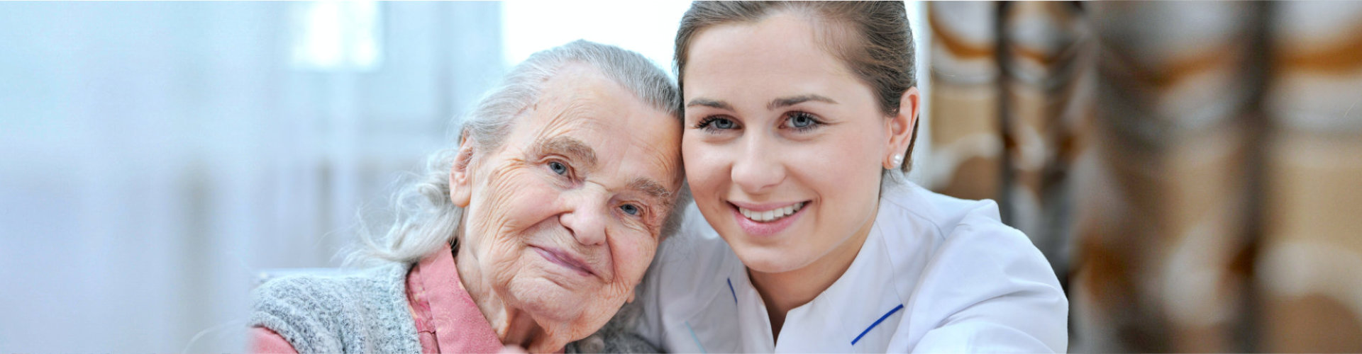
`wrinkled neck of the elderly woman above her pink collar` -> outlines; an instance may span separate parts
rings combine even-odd
[[[515,344],[527,349],[530,353],[554,353],[567,346],[567,340],[545,335],[543,329],[530,317],[528,313],[507,306],[501,297],[492,290],[490,280],[470,246],[460,246],[455,251],[455,267],[463,287],[469,290],[473,304],[478,305],[478,312],[492,324],[492,331],[503,344]]]

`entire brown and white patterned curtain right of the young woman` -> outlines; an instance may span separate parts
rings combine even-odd
[[[1362,5],[928,19],[929,188],[1031,237],[1073,351],[1362,351]]]

